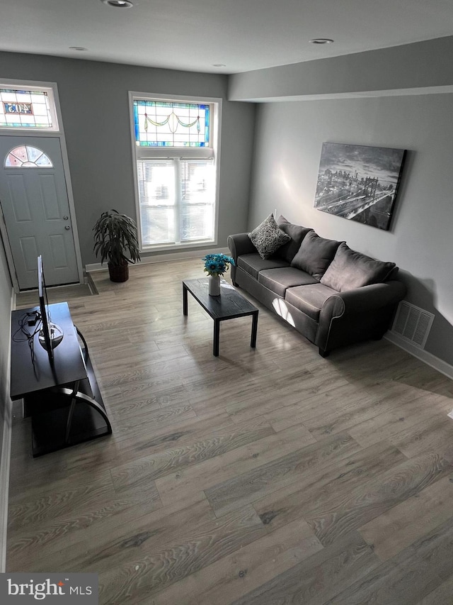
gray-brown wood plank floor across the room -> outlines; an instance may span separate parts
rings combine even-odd
[[[101,604],[452,605],[453,384],[386,340],[320,357],[260,308],[212,320],[131,267],[69,299],[113,435],[33,459],[15,404],[7,570]]]

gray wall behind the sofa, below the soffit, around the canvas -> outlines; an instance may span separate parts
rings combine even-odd
[[[406,299],[435,313],[425,350],[453,365],[453,94],[261,104],[248,228],[289,221],[401,267]],[[314,209],[321,145],[408,150],[390,231]]]

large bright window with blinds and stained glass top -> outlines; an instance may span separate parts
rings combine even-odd
[[[213,243],[219,104],[131,100],[142,248]]]

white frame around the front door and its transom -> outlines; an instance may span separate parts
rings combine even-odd
[[[66,180],[66,189],[68,194],[69,201],[69,216],[71,217],[71,227],[72,227],[72,235],[74,238],[74,249],[76,251],[76,264],[77,264],[77,274],[79,276],[79,284],[84,283],[84,268],[82,265],[82,257],[80,251],[80,243],[79,243],[79,232],[77,231],[77,223],[76,223],[76,209],[74,206],[74,196],[72,194],[72,184],[71,184],[71,173],[69,171],[69,157],[67,153],[66,147],[66,138],[64,136],[63,122],[62,122],[62,113],[59,106],[59,96],[58,96],[58,88],[56,82],[35,82],[31,80],[13,80],[9,78],[4,79],[5,84],[10,84],[14,87],[42,87],[42,88],[51,88],[55,100],[55,111],[57,113],[57,125],[58,128],[55,130],[25,130],[22,128],[0,128],[0,136],[1,137],[34,137],[34,138],[57,138],[59,139],[59,146],[62,151],[62,160],[63,160],[63,173],[64,179]],[[0,158],[0,162],[3,162],[4,158]],[[11,281],[13,282],[13,289],[16,294],[20,292],[18,278],[16,276],[16,268],[14,266],[13,253],[11,252],[11,246],[9,243],[8,232],[6,231],[6,222],[5,217],[3,215],[3,211],[0,208],[0,235],[4,243],[4,248],[6,252],[6,260],[8,262],[8,269],[11,275]],[[38,287],[38,283],[36,284]]]

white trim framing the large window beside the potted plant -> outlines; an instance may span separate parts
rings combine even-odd
[[[188,148],[155,148],[136,145],[134,131],[134,99],[159,99],[161,101],[174,101],[179,103],[203,103],[212,105],[212,121],[210,132],[210,144],[212,147],[193,148],[193,151]],[[181,96],[173,94],[153,94],[149,92],[129,91],[129,111],[130,111],[130,135],[132,145],[132,169],[134,174],[134,196],[135,196],[135,211],[137,216],[138,240],[139,247],[142,252],[156,252],[164,250],[184,250],[187,248],[206,248],[207,245],[217,245],[218,224],[219,224],[219,183],[220,183],[220,136],[222,124],[222,99],[219,97],[198,97],[198,96]],[[215,209],[214,209],[214,238],[212,240],[203,240],[197,242],[184,243],[168,243],[144,245],[142,239],[142,226],[140,223],[140,204],[138,190],[138,174],[137,160],[155,159],[166,160],[180,158],[187,159],[207,159],[214,157],[216,167],[216,179],[214,185],[215,194]]]

